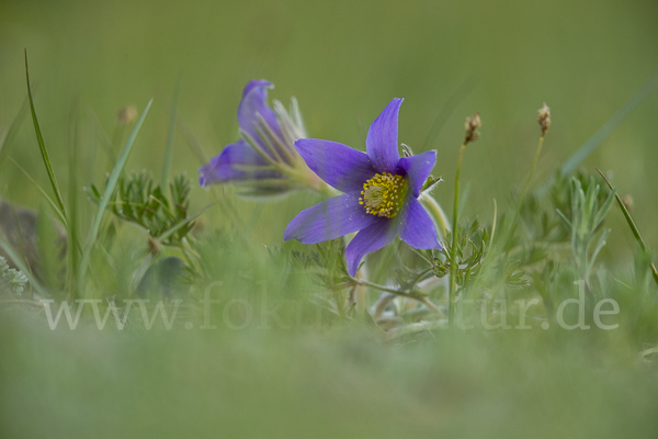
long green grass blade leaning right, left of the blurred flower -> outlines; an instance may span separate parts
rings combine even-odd
[[[139,130],[141,130],[144,120],[148,115],[152,103],[154,100],[151,98],[151,100],[148,101],[148,104],[146,104],[144,113],[141,113],[141,116],[135,124],[135,128],[133,128],[133,133],[131,133],[131,136],[126,140],[126,144],[123,150],[121,151],[121,155],[118,156],[118,160],[114,165],[114,169],[112,169],[112,173],[107,179],[107,185],[105,187],[105,191],[103,192],[103,196],[101,198],[101,202],[99,203],[99,210],[97,211],[97,214],[93,218],[93,223],[91,224],[91,229],[89,230],[89,238],[87,240],[84,251],[82,252],[82,259],[78,269],[78,288],[82,286],[82,281],[84,279],[84,274],[87,273],[87,268],[89,267],[89,260],[91,258],[91,250],[99,234],[99,229],[101,228],[101,221],[103,219],[103,214],[105,213],[107,204],[110,203],[110,198],[114,192],[114,188],[116,187],[116,182],[118,181],[118,178],[123,172],[123,168],[126,165],[126,161],[128,160],[128,156],[131,154],[131,150],[133,149],[133,145],[135,144],[135,139],[137,138],[137,134],[139,134]]]

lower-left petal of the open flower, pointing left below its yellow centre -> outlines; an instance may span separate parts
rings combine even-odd
[[[378,219],[359,204],[359,192],[343,193],[299,212],[290,222],[283,239],[317,244],[361,230]]]

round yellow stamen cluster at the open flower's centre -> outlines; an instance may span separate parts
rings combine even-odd
[[[375,216],[393,218],[400,211],[407,194],[407,180],[393,173],[375,173],[363,184],[359,204]]]

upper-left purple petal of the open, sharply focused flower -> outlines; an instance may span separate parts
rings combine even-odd
[[[318,177],[339,191],[361,191],[377,173],[366,154],[337,142],[300,138],[295,148]]]

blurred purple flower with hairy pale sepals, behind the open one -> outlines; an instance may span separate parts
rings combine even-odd
[[[201,185],[236,183],[249,195],[304,187],[328,189],[295,150],[294,142],[306,137],[297,101],[293,98],[290,112],[279,101],[272,110],[266,101],[268,89],[273,87],[265,80],[252,80],[245,87],[238,106],[241,138],[200,169]]]

